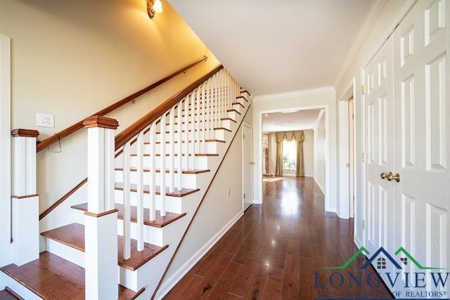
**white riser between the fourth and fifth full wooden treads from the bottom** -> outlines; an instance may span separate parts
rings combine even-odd
[[[160,186],[162,174],[159,172],[153,173],[153,175],[155,176],[156,185]],[[165,173],[166,185],[169,184],[172,175],[174,175],[174,186],[179,188],[179,174]],[[129,176],[130,183],[137,183],[138,172],[131,171],[129,172]],[[123,171],[115,171],[115,182],[123,182]],[[150,172],[143,172],[143,183],[150,183]],[[181,188],[197,188],[197,174],[181,174]]]

